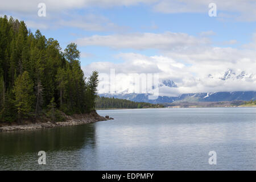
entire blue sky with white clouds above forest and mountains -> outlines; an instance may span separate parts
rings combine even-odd
[[[164,96],[256,90],[255,0],[0,1],[0,15],[24,20],[63,50],[76,43],[86,77],[94,70],[119,73],[118,93],[133,86],[133,73],[173,80],[178,87],[162,88]],[[38,15],[39,3],[46,16]],[[234,74],[222,80],[228,69]]]

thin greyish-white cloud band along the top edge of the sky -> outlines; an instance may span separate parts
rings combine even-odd
[[[208,13],[209,3],[216,3],[218,18],[256,20],[256,1],[254,0],[9,0],[1,2],[0,12],[36,16],[39,10],[38,4],[42,2],[46,3],[47,15],[91,7],[111,8],[140,4],[150,5],[150,8],[160,13]]]

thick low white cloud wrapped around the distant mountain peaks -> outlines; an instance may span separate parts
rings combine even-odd
[[[84,67],[84,70],[91,72],[96,69],[100,73],[110,74],[110,69],[115,69],[116,74],[125,74],[125,76],[119,77],[119,81],[116,83],[119,93],[133,88],[131,73],[159,73],[160,80],[174,80],[179,87],[160,88],[160,95],[163,96],[177,96],[181,93],[195,92],[255,90],[255,76],[244,80],[223,81],[220,79],[228,68],[232,68],[237,73],[245,71],[255,75],[255,60],[241,60],[236,61],[236,63],[225,61],[221,63],[220,61],[218,64],[205,61],[204,63],[195,62],[192,65],[186,65],[166,56],[148,57],[135,53],[124,53],[119,56],[123,57],[124,63],[92,63]],[[213,75],[214,78],[208,77],[209,74]],[[99,92],[103,93],[104,90],[99,89]]]

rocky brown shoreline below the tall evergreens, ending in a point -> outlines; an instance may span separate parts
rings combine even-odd
[[[110,118],[108,115],[102,117],[96,113],[96,111],[90,114],[74,114],[72,116],[64,115],[65,121],[63,122],[50,122],[50,121],[36,121],[36,123],[24,123],[18,125],[16,123],[10,123],[3,126],[0,126],[1,131],[16,131],[16,130],[36,130],[36,129],[46,129],[51,127],[61,127],[61,126],[76,126],[83,125],[86,123],[94,123],[98,121],[107,121],[113,118]]]

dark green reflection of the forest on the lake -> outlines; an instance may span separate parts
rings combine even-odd
[[[95,146],[95,126],[57,127],[34,131],[0,133],[0,156],[20,155],[27,152],[79,150]]]

